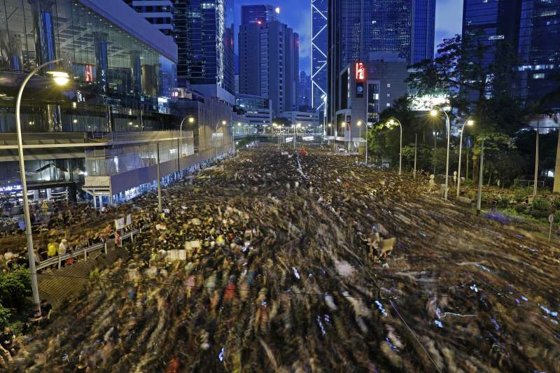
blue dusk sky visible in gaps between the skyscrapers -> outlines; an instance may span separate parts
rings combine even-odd
[[[235,38],[237,45],[237,32],[241,23],[241,6],[249,4],[270,3],[279,6],[280,21],[288,24],[300,34],[300,69],[309,73],[311,71],[311,2],[309,0],[234,0],[235,1]],[[435,15],[435,43],[440,43],[442,38],[461,33],[463,19],[463,1],[436,0]],[[237,49],[237,46],[236,46]],[[236,50],[237,53],[237,50]]]

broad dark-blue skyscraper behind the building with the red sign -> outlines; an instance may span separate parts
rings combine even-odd
[[[345,66],[379,52],[408,64],[433,58],[434,33],[435,0],[328,0],[328,116],[337,110]]]

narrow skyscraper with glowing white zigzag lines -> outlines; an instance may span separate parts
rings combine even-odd
[[[327,94],[328,0],[311,0],[311,106],[323,109]]]

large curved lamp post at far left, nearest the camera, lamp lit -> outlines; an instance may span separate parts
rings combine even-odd
[[[18,92],[18,99],[15,101],[15,129],[18,132],[18,155],[20,157],[20,174],[22,178],[22,194],[23,194],[23,213],[25,216],[25,237],[27,238],[27,256],[29,257],[29,272],[31,274],[31,290],[33,293],[33,303],[36,307],[36,316],[41,317],[41,300],[39,299],[39,290],[37,284],[37,272],[35,269],[35,254],[33,250],[33,234],[31,232],[31,217],[29,214],[29,198],[27,197],[27,180],[25,178],[25,160],[23,157],[23,141],[22,141],[22,124],[20,116],[20,106],[22,103],[23,90],[27,82],[43,67],[55,64],[62,61],[62,58],[53,59],[52,61],[46,62],[36,69],[31,71],[23,80],[20,87],[20,92]],[[48,71],[50,76],[57,85],[65,85],[69,81],[68,73],[62,71]]]

